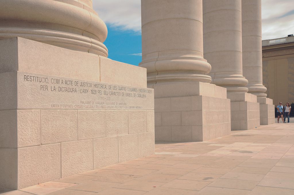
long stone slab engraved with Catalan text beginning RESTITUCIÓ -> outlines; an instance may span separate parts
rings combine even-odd
[[[18,72],[18,108],[154,109],[153,89]]]

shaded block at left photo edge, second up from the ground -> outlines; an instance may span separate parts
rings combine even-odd
[[[0,148],[17,147],[17,110],[0,111]]]

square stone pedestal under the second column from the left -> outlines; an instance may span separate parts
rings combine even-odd
[[[203,82],[156,84],[155,140],[205,141],[231,131],[226,88]]]

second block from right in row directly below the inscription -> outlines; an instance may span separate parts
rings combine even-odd
[[[147,131],[147,112],[146,110],[128,111],[128,133],[142,133]]]

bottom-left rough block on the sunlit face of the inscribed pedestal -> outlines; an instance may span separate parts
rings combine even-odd
[[[60,143],[19,148],[18,189],[59,179],[60,150]]]

